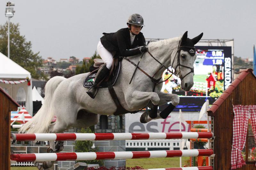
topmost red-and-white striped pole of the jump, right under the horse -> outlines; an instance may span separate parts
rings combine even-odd
[[[212,132],[177,133],[11,133],[18,141],[66,141],[66,140],[138,140],[138,139],[190,139],[212,138]]]

